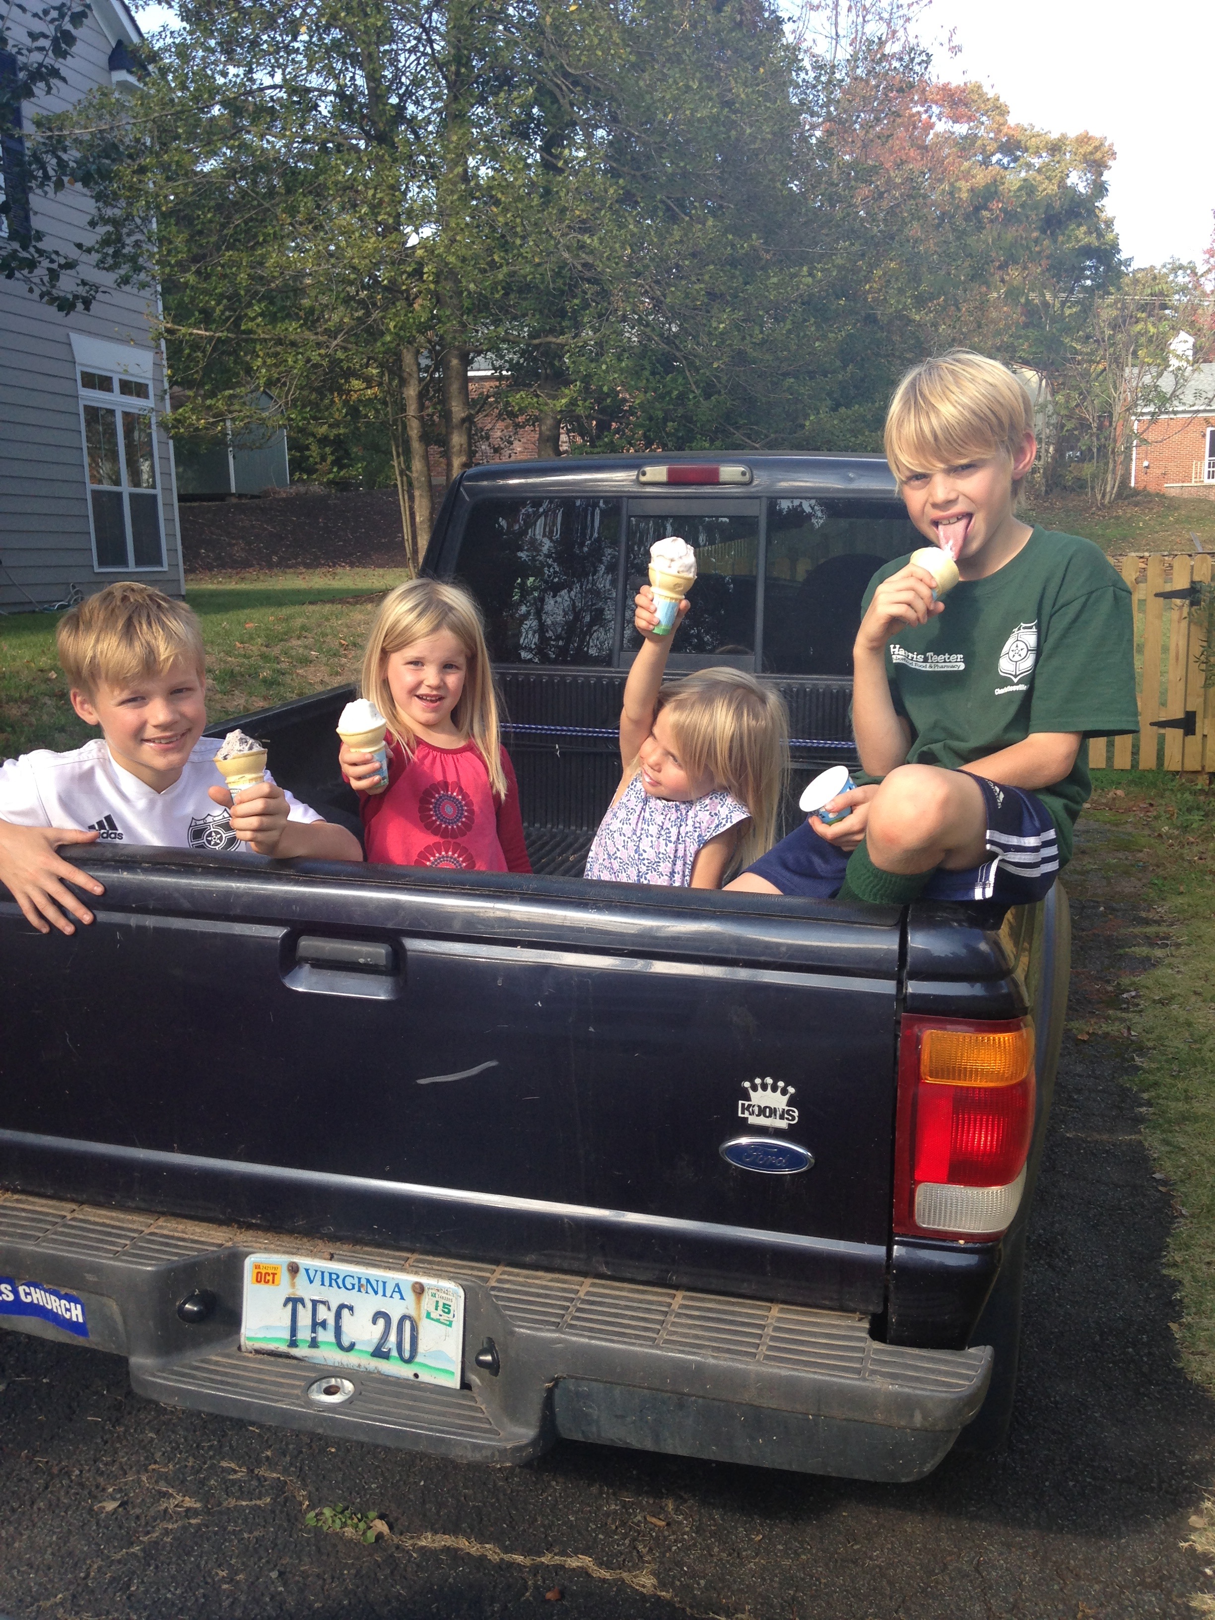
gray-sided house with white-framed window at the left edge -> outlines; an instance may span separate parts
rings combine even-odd
[[[97,86],[138,96],[128,49],[143,39],[123,0],[92,0],[65,81],[23,107],[62,112]],[[13,141],[5,141],[5,167]],[[36,230],[71,251],[89,198],[31,198]],[[92,274],[92,272],[91,272]],[[102,277],[97,275],[97,280]],[[164,352],[147,293],[110,287],[63,316],[0,280],[0,609],[13,612],[138,578],[185,591]]]

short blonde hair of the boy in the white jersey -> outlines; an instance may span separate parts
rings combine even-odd
[[[172,596],[118,580],[71,608],[55,630],[68,684],[96,697],[97,687],[123,687],[159,676],[177,659],[206,671],[202,630],[191,608]]]

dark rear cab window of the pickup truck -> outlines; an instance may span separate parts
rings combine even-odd
[[[870,481],[888,492],[854,496],[818,492],[825,480],[813,457],[779,460],[782,489],[799,462],[816,488],[770,496],[757,475],[760,488],[737,491],[507,494],[494,489],[492,468],[476,468],[428,567],[481,604],[499,669],[627,669],[640,645],[633,596],[648,580],[650,548],[677,535],[695,549],[698,575],[672,674],[734,664],[847,680],[865,586],[915,548],[915,531],[885,463],[868,463]],[[569,467],[577,478],[578,462]],[[526,470],[510,465],[509,483],[517,488]],[[585,478],[595,483],[590,465]]]

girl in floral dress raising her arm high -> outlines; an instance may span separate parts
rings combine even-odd
[[[781,697],[739,669],[701,669],[663,685],[688,603],[669,635],[648,585],[637,595],[642,648],[620,711],[624,776],[599,823],[586,876],[718,889],[771,849],[789,758]]]

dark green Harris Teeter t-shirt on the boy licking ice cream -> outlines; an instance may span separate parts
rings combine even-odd
[[[868,582],[868,608],[881,580]],[[1139,731],[1134,609],[1126,582],[1089,539],[1035,528],[985,580],[962,580],[944,612],[899,630],[886,645],[894,708],[912,727],[909,765],[957,770],[1035,731],[1111,737]],[[1087,748],[1071,773],[1038,787],[1071,860],[1072,826],[1092,782]]]

